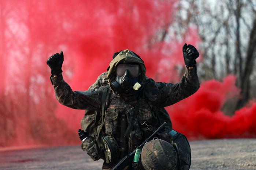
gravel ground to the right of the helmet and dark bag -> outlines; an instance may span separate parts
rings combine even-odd
[[[256,170],[256,139],[201,140],[190,146],[190,169]]]

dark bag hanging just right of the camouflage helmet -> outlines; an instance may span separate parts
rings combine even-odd
[[[171,130],[169,135],[172,136],[172,141],[178,151],[181,170],[188,170],[191,165],[191,150],[188,139],[185,135],[174,130]]]

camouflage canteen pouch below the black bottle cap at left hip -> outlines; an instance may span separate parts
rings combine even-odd
[[[94,138],[90,136],[85,138],[81,144],[81,147],[83,151],[87,152],[87,154],[93,159],[93,161],[97,161],[100,158],[103,158],[103,154],[100,152],[100,149],[97,147],[97,144]]]

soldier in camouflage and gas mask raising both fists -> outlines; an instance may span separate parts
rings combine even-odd
[[[48,59],[57,100],[70,108],[95,111],[93,115],[88,115],[88,122],[93,123],[88,123],[90,127],[86,127],[93,133],[86,138],[82,148],[94,160],[104,159],[103,169],[114,167],[152,134],[161,123],[161,108],[177,103],[199,89],[195,60],[199,53],[192,45],[185,44],[182,49],[187,69],[177,84],[146,78],[142,59],[133,51],[123,50],[110,63],[107,86],[74,92],[61,74],[63,52]],[[191,156],[186,137],[174,130],[170,131],[168,126],[157,137],[175,146],[177,164],[168,165],[169,169],[189,169]],[[159,147],[155,144],[152,146]],[[139,162],[137,169],[148,169],[149,161],[142,161],[144,163]],[[158,167],[161,165],[161,162],[157,164]]]

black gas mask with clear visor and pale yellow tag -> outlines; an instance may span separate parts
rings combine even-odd
[[[140,82],[140,69],[137,64],[119,64],[116,67],[115,81],[111,86],[118,94],[133,94],[142,89],[143,83]]]

